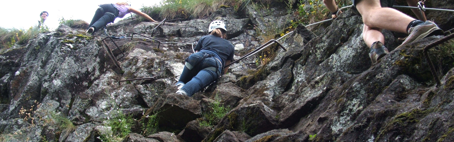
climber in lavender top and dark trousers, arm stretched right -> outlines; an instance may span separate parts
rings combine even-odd
[[[87,29],[87,33],[93,34],[94,32],[104,27],[104,25],[114,22],[115,18],[123,18],[126,14],[131,12],[149,21],[157,22],[147,14],[131,8],[126,2],[104,4],[99,5],[99,8],[94,13],[93,19],[91,20],[89,28]]]

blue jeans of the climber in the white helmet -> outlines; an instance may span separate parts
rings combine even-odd
[[[204,57],[204,55],[206,56],[207,53],[203,50],[191,54],[186,59],[186,64],[190,64],[190,66],[184,66],[180,79],[177,82],[177,84],[185,83],[181,89],[186,91],[188,96],[192,96],[197,91],[216,81],[222,71],[222,65],[215,57]]]

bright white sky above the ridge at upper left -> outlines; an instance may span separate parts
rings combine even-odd
[[[0,12],[3,18],[0,27],[28,29],[38,25],[39,14],[42,11],[49,12],[47,20],[44,22],[49,30],[55,30],[59,26],[59,20],[84,20],[90,23],[94,12],[101,4],[115,3],[122,0],[3,0],[3,7]],[[142,5],[152,6],[159,4],[162,0],[128,0],[131,7],[139,10]],[[124,18],[131,16],[126,15]],[[115,22],[121,20],[115,19]]]

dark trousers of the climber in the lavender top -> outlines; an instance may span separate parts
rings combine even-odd
[[[99,5],[99,8],[94,13],[93,19],[90,22],[89,28],[94,27],[94,31],[98,31],[104,25],[113,23],[118,17],[119,11],[114,4]]]

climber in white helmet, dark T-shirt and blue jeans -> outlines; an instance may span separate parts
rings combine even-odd
[[[181,95],[192,96],[224,75],[233,60],[235,48],[227,41],[227,29],[224,22],[214,20],[208,27],[209,35],[198,41],[195,51],[186,58],[186,63],[177,82]]]

